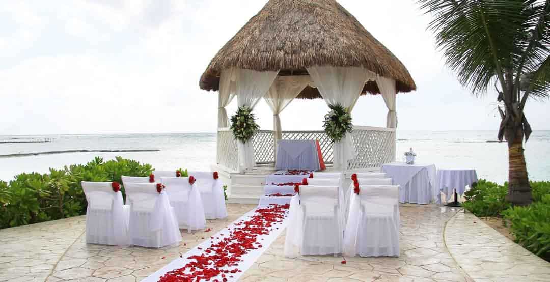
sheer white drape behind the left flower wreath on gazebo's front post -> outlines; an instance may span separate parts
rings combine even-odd
[[[239,107],[247,106],[254,109],[260,99],[266,95],[278,73],[279,71],[235,70]],[[246,143],[239,141],[237,147],[239,150],[238,169],[242,173],[256,164],[254,161],[254,147],[252,147],[252,141]]]

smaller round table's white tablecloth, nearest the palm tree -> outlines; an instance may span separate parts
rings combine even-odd
[[[471,186],[474,182],[477,182],[475,169],[437,170],[437,190],[442,191],[447,196],[447,202],[453,196],[453,190],[456,190],[458,195],[463,195],[466,186]]]

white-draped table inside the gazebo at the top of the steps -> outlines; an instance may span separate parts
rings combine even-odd
[[[279,140],[276,169],[319,170],[319,155],[315,140]]]

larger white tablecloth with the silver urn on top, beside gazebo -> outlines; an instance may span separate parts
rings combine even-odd
[[[399,185],[399,202],[427,204],[437,200],[436,165],[388,163],[382,165],[382,172],[392,178],[393,185]]]

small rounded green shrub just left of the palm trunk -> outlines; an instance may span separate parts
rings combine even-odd
[[[464,193],[466,201],[463,206],[477,217],[496,217],[510,207],[510,203],[505,200],[507,186],[500,186],[485,179],[472,186],[474,187]]]

